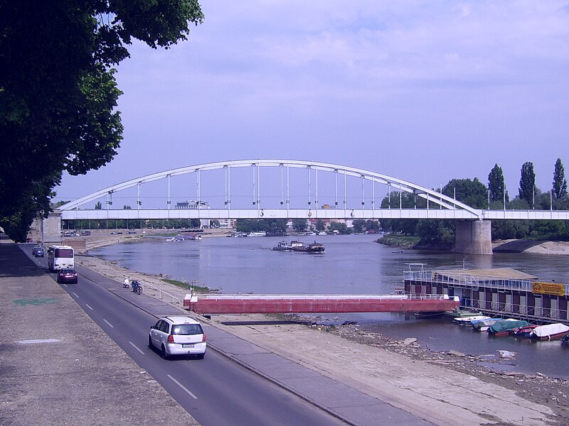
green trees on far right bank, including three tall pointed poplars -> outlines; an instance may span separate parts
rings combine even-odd
[[[440,190],[437,190],[440,192]],[[519,192],[513,200],[504,184],[504,173],[499,165],[488,175],[486,187],[477,178],[452,179],[442,193],[477,209],[540,209],[569,210],[569,195],[563,163],[558,158],[553,171],[551,190],[542,192],[536,187],[533,163],[522,165]],[[427,200],[416,195],[391,192],[381,202],[389,207],[426,209]],[[430,206],[432,208],[432,206]],[[418,236],[418,246],[449,249],[454,246],[455,222],[450,219],[381,219],[384,231],[407,236]],[[536,239],[569,241],[569,222],[555,220],[492,220],[492,239]]]

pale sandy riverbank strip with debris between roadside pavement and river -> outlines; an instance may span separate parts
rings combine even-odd
[[[76,261],[117,280],[117,285],[124,275],[142,280],[145,294],[182,309],[186,292],[159,276],[90,256]],[[211,323],[435,425],[569,424],[569,381],[540,373],[496,373],[479,366],[490,358],[432,352],[412,336],[394,341],[361,332],[357,324],[324,327],[298,319],[291,323],[264,315],[216,315]]]

